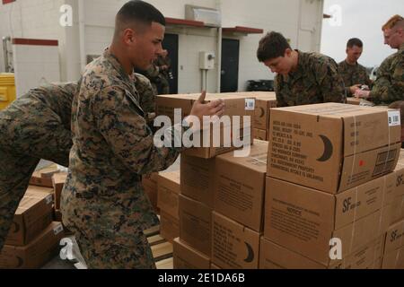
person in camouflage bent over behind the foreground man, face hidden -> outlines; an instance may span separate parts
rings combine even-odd
[[[149,126],[153,126],[151,84],[140,74],[134,83]],[[77,83],[61,83],[32,89],[0,111],[0,250],[40,159],[68,166],[76,88]]]

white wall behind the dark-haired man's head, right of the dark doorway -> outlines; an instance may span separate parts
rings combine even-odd
[[[274,74],[268,71],[265,65],[259,64],[256,57],[259,39],[268,31],[281,32],[286,39],[291,40],[292,48],[320,51],[322,23],[322,1],[320,0],[222,0],[220,2],[223,27],[247,26],[264,30],[263,34],[250,34],[239,38],[239,90],[245,89],[248,80],[274,78]],[[250,16],[246,17],[246,15]],[[301,22],[300,29],[299,22]],[[307,30],[313,30],[314,33]]]

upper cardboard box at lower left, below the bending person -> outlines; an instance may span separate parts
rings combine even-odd
[[[33,188],[35,190],[35,188]],[[13,218],[5,244],[23,246],[38,236],[52,222],[52,195],[28,187]]]

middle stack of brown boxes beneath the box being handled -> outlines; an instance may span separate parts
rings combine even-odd
[[[181,155],[175,268],[258,268],[267,154],[255,140],[246,157]]]

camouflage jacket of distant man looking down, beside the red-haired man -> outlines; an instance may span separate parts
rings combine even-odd
[[[338,64],[338,72],[345,84],[347,96],[352,97],[353,94],[349,91],[349,87],[356,84],[365,84],[369,88],[372,87],[372,81],[367,75],[366,68],[356,62],[356,65],[349,65],[347,61],[342,61]]]

